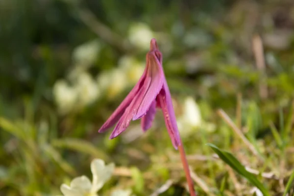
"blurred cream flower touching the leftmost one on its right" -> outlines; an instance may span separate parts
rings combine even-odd
[[[76,90],[78,93],[78,104],[81,106],[95,101],[100,93],[96,81],[89,73],[81,73],[78,75]]]

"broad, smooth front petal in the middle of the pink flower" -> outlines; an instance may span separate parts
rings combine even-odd
[[[163,86],[164,73],[162,70],[162,55],[159,50],[148,52],[146,56],[147,68],[146,78],[151,79],[151,83],[146,86],[147,90],[142,98],[141,104],[133,117],[133,121],[146,115],[152,102],[159,94]],[[144,84],[145,85],[145,84]]]

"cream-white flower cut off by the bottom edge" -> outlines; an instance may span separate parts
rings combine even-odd
[[[72,180],[70,186],[62,184],[60,187],[64,196],[98,196],[97,192],[102,188],[104,183],[109,180],[113,171],[114,164],[105,166],[101,159],[94,159],[91,163],[91,172],[93,181],[86,176],[76,177]]]

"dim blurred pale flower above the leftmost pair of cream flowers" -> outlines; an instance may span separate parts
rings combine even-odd
[[[73,61],[78,66],[91,66],[96,61],[99,51],[100,43],[98,40],[87,42],[74,49]]]

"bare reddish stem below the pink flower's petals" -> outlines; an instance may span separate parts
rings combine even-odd
[[[184,172],[186,174],[186,179],[187,179],[187,183],[188,183],[188,187],[189,187],[189,191],[190,191],[190,196],[196,196],[193,180],[190,175],[189,165],[188,165],[188,161],[186,158],[186,153],[185,153],[185,150],[184,150],[184,147],[183,147],[181,140],[180,140],[180,144],[178,146],[178,149],[180,151],[181,161],[183,164]]]

